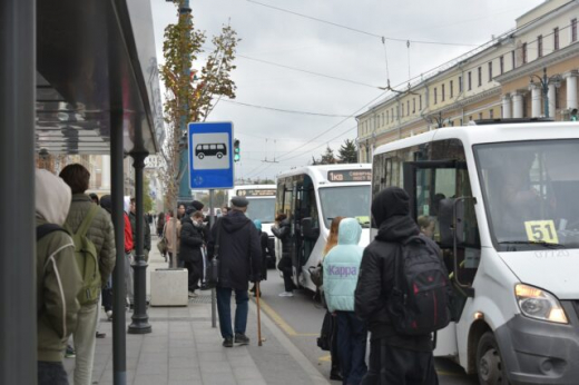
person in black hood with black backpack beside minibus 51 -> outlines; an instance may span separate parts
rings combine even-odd
[[[371,210],[379,230],[364,249],[355,292],[356,316],[371,332],[370,367],[362,384],[438,384],[432,333],[450,322],[440,248],[419,236],[403,189],[380,191]]]

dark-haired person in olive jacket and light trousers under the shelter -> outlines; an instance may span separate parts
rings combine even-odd
[[[109,215],[85,194],[89,186],[90,172],[84,166],[72,164],[65,167],[59,176],[72,191],[65,228],[75,240],[76,259],[84,280],[78,296],[78,323],[72,333],[77,355],[75,385],[90,385],[98,300],[100,289],[115,268],[115,234]]]

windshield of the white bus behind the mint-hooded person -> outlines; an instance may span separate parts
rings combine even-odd
[[[322,216],[326,228],[335,217],[356,218],[370,227],[370,185],[320,188]]]

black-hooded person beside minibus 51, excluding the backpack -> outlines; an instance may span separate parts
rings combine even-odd
[[[372,201],[372,216],[379,231],[364,249],[355,292],[355,313],[367,323],[372,333],[370,368],[363,385],[439,383],[431,336],[396,334],[386,310],[394,286],[394,260],[402,253],[401,244],[420,234],[410,217],[409,201],[406,191],[398,187],[382,190]]]

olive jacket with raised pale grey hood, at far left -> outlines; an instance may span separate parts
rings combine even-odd
[[[70,208],[70,188],[47,170],[36,170],[37,226],[62,226]],[[37,244],[38,361],[61,362],[66,340],[76,328],[82,278],[75,245],[66,231],[52,231]]]

